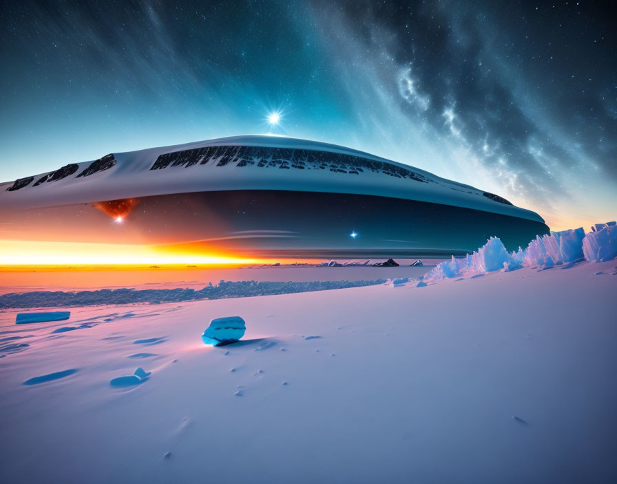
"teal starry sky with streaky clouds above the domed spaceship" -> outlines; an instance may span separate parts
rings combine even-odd
[[[275,131],[497,193],[554,230],[617,217],[609,2],[0,5],[0,179]]]

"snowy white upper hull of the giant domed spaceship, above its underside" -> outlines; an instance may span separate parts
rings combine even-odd
[[[275,135],[110,153],[0,184],[0,205],[35,208],[151,195],[291,190],[393,197],[543,219],[466,184],[344,146]]]

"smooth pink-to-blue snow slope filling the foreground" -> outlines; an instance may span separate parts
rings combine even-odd
[[[0,481],[615,482],[615,266],[2,312]]]

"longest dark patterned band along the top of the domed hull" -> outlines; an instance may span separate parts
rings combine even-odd
[[[378,162],[355,155],[332,153],[295,148],[267,148],[263,146],[207,146],[191,150],[174,151],[160,155],[151,166],[151,170],[162,170],[168,167],[194,166],[212,162],[216,166],[234,164],[257,166],[258,168],[280,168],[289,170],[330,170],[335,173],[358,175],[364,170],[373,173],[383,173],[390,177],[407,178],[421,183],[434,181],[421,173],[409,168],[386,162]]]

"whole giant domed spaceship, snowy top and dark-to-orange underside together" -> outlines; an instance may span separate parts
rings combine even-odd
[[[0,222],[4,240],[307,258],[462,255],[490,236],[515,250],[549,232],[499,195],[273,135],[111,153],[3,183]]]

